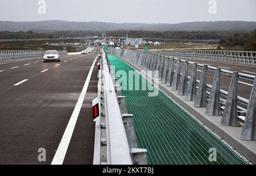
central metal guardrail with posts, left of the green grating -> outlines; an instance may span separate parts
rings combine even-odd
[[[118,91],[105,52],[101,51],[98,71],[100,116],[96,118],[93,164],[147,164],[146,149],[139,149],[135,138],[133,115],[127,114],[125,97]],[[105,134],[104,134],[105,133]],[[104,148],[104,146],[106,146]],[[104,160],[104,153],[106,150]]]

